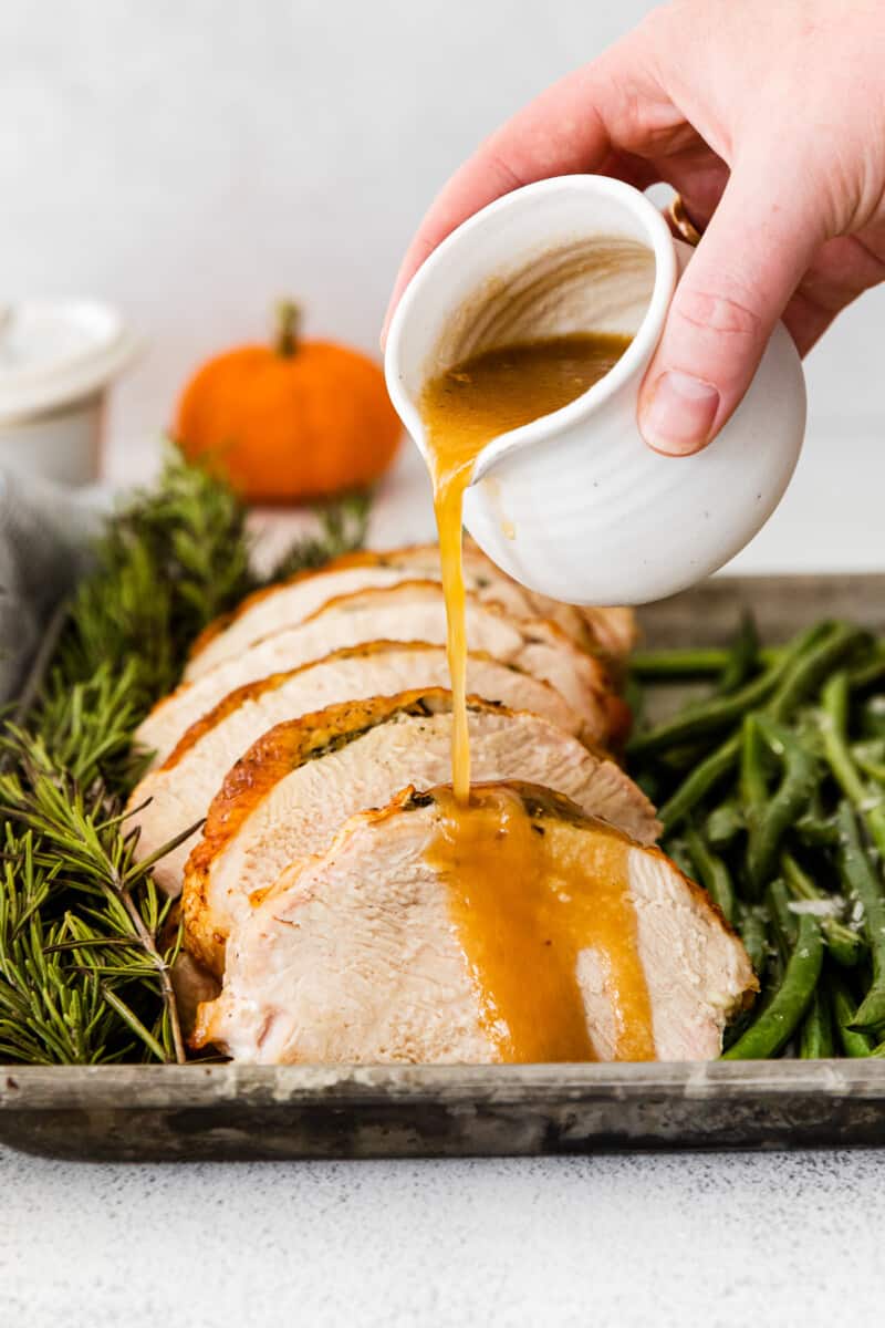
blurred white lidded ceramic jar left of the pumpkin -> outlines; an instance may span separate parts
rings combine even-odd
[[[0,470],[66,485],[97,479],[107,389],[138,348],[105,304],[0,309]]]

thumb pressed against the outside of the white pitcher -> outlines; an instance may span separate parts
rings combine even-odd
[[[690,456],[716,436],[823,243],[813,199],[768,202],[776,186],[763,178],[732,175],[677,287],[640,390],[640,430],[655,452]]]

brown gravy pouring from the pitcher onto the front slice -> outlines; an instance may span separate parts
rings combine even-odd
[[[486,1031],[503,1061],[593,1060],[577,980],[577,956],[586,947],[604,969],[617,1057],[654,1057],[629,845],[600,826],[589,859],[563,863],[515,794],[480,788],[471,798],[466,706],[462,509],[476,456],[492,438],[575,401],[628,345],[624,336],[571,333],[484,351],[430,380],[421,397],[452,689],[452,795],[430,857],[450,882]]]

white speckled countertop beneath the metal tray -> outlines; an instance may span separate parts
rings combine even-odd
[[[877,440],[809,445],[736,566],[881,567],[884,479]],[[422,538],[423,493],[406,454],[374,538]],[[138,1167],[0,1150],[0,1321],[874,1323],[884,1161],[857,1151]]]

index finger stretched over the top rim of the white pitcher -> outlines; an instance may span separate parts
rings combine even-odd
[[[642,81],[638,57],[632,66],[625,58],[632,45],[629,39],[618,42],[593,64],[553,84],[455,171],[402,260],[385,316],[382,345],[403,290],[456,226],[513,189],[553,175],[600,170],[616,157],[617,149],[632,149],[637,129],[633,110]]]

